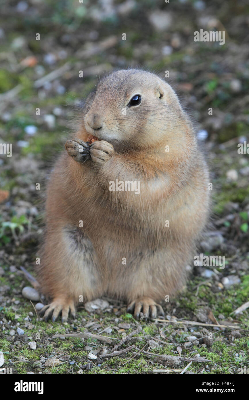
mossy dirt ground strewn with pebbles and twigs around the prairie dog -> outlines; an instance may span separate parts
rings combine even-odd
[[[2,368],[179,374],[191,363],[185,374],[249,373],[249,308],[235,312],[249,300],[248,12],[246,0],[10,0],[1,7],[0,143],[13,144],[11,157],[0,154]],[[225,44],[195,42],[200,29],[225,32]],[[137,321],[125,304],[104,298],[65,324],[44,322],[36,302],[22,296],[31,285],[20,267],[35,276],[48,174],[80,101],[99,76],[130,66],[161,78],[169,71],[195,123],[213,199],[199,252],[225,256],[225,267],[191,265],[186,289],[162,302],[164,321]]]

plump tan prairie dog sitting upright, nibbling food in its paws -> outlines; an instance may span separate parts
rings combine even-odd
[[[136,318],[163,315],[158,302],[184,286],[209,214],[207,166],[175,92],[149,72],[114,72],[65,146],[47,188],[44,318],[66,321],[80,296],[102,295]]]

